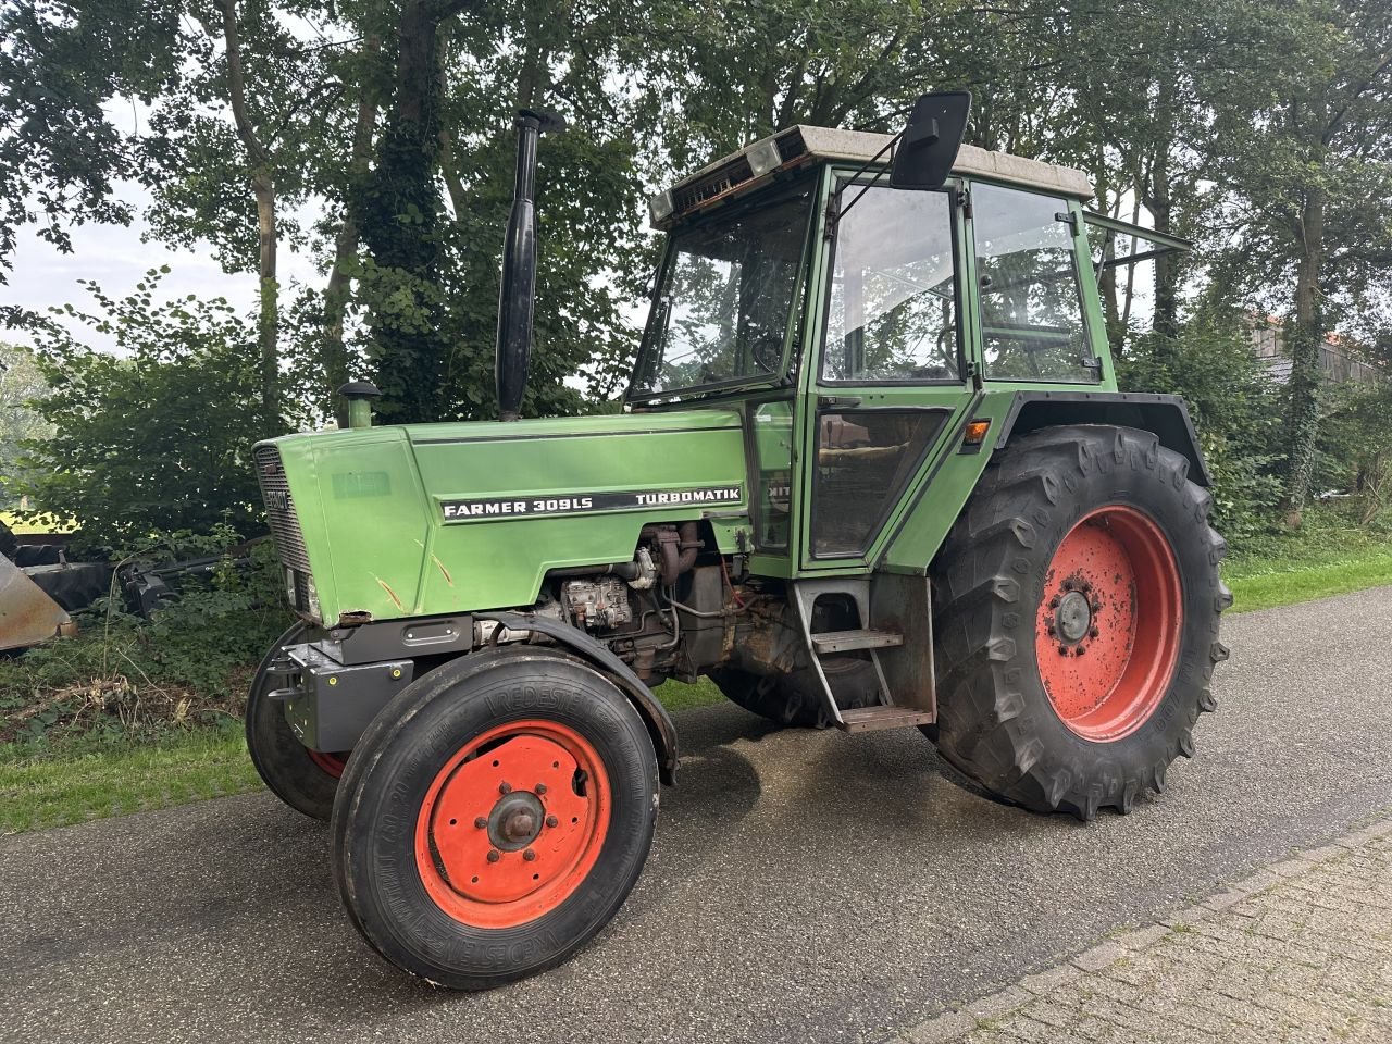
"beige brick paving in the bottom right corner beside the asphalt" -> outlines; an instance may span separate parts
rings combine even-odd
[[[924,1036],[930,1027],[935,1036]],[[905,1038],[1389,1044],[1392,820],[1102,941]]]

